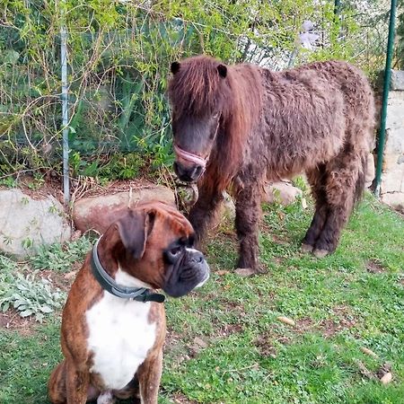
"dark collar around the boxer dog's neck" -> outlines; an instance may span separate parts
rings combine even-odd
[[[102,236],[101,236],[102,237]],[[114,296],[121,297],[122,299],[133,299],[136,302],[157,302],[162,303],[165,300],[164,294],[154,294],[150,289],[145,287],[126,287],[120,286],[115,282],[113,277],[102,268],[100,259],[98,258],[98,243],[101,237],[97,240],[92,248],[92,275],[97,279],[102,289],[110,292]]]

